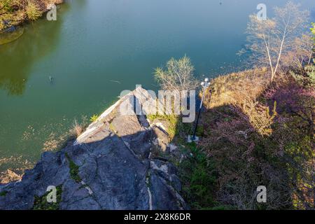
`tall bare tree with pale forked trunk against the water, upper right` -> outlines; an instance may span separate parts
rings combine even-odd
[[[307,31],[309,11],[299,8],[299,4],[289,1],[283,8],[274,8],[274,18],[259,20],[257,15],[250,15],[246,48],[250,50],[251,62],[255,66],[269,66],[271,81],[279,68],[286,64],[283,55],[293,52],[297,48],[297,38],[302,38]]]

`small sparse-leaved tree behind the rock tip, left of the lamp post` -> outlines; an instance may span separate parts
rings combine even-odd
[[[190,58],[182,57],[181,59],[170,59],[167,62],[166,69],[155,69],[155,79],[161,85],[163,90],[195,90],[198,86],[197,79],[193,71],[194,66],[190,62]]]

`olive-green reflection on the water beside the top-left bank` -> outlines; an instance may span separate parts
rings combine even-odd
[[[18,32],[2,36],[3,43],[4,38],[6,41],[9,38],[10,41],[12,38],[20,38],[4,45],[0,42],[0,88],[6,90],[8,94],[23,94],[31,75],[31,66],[54,50],[59,40],[61,26],[61,21],[47,22],[42,19],[18,29]]]

